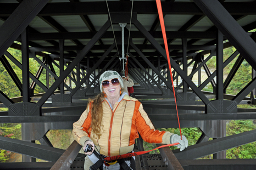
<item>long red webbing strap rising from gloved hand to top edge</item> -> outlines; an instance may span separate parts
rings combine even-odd
[[[161,29],[162,29],[163,38],[164,38],[164,47],[165,47],[165,50],[166,50],[166,56],[167,56],[167,60],[168,60],[168,64],[169,64],[169,70],[170,70],[170,75],[171,75],[171,83],[172,83],[172,90],[174,92],[174,100],[175,100],[177,117],[178,117],[179,128],[180,128],[180,120],[179,120],[179,114],[178,114],[177,103],[176,103],[176,95],[175,95],[175,89],[174,89],[174,80],[172,78],[172,73],[171,73],[171,62],[170,62],[170,56],[169,56],[169,50],[168,50],[168,44],[167,44],[167,38],[166,38],[166,32],[165,32],[165,26],[164,26],[164,17],[163,17],[163,12],[162,12],[162,5],[161,5],[161,1],[160,0],[155,0],[155,1],[157,2],[157,10],[158,10],[159,20],[160,20]],[[180,129],[180,138],[182,139],[181,129]]]

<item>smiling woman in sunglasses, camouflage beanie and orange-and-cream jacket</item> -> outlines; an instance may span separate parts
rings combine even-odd
[[[181,140],[177,134],[154,129],[140,101],[124,92],[118,72],[105,71],[99,82],[101,93],[88,101],[87,109],[73,124],[73,137],[83,150],[87,144],[92,146],[92,151],[85,152],[85,169],[98,169],[99,166],[107,169],[130,169],[132,166],[135,169],[132,159],[118,160],[110,166],[101,165],[101,157],[93,154],[93,150],[96,148],[105,156],[127,154],[132,152],[138,133],[148,143],[180,143],[177,146],[181,151],[187,147],[186,137],[182,136]]]

